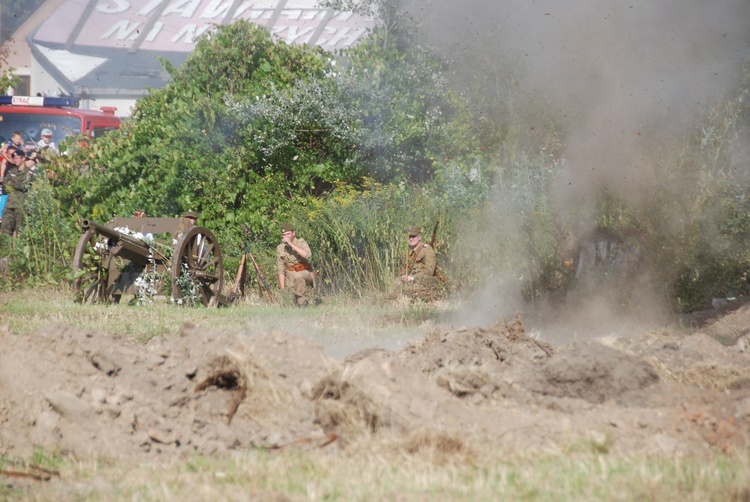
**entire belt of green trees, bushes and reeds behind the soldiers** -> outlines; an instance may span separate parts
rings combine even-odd
[[[328,294],[388,290],[406,256],[402,231],[414,224],[426,239],[439,225],[453,291],[512,276],[509,287],[526,300],[569,300],[630,274],[648,276],[682,311],[749,292],[744,83],[658,152],[663,175],[637,207],[603,187],[595,204],[562,213],[552,190],[565,175],[564,124],[549,120],[530,135],[510,100],[477,87],[486,81],[455,85],[450,60],[415,42],[397,3],[359,8],[383,24],[346,52],[289,46],[241,21],[202,39],[182,67],[165,62],[168,86],[140,100],[119,131],[58,158],[52,186],[35,185],[55,230],[32,216],[17,243],[3,241],[2,286],[64,282],[77,221],[142,209],[199,211],[230,275],[251,249],[273,277],[278,230],[291,221]],[[516,78],[506,71],[500,80]],[[598,255],[591,263],[617,274],[587,279],[566,267],[571,234],[591,249],[611,246],[611,263]],[[610,289],[620,294],[620,284]]]

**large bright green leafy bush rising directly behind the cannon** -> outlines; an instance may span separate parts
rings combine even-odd
[[[324,169],[318,159],[290,169],[291,153],[269,162],[262,153],[275,148],[276,138],[268,133],[273,123],[258,118],[266,133],[258,132],[255,115],[248,122],[230,106],[259,100],[268,108],[286,89],[323,78],[327,61],[320,49],[274,42],[246,21],[218,28],[180,69],[165,63],[173,81],[140,100],[132,120],[62,160],[61,176],[71,168],[74,174],[59,186],[61,197],[75,200],[81,216],[94,218],[135,209],[150,215],[194,209],[220,231],[227,225],[267,227],[297,196],[307,196],[295,190],[315,186],[316,173],[325,175]],[[315,98],[312,91],[308,96]],[[268,144],[250,142],[263,137]]]

